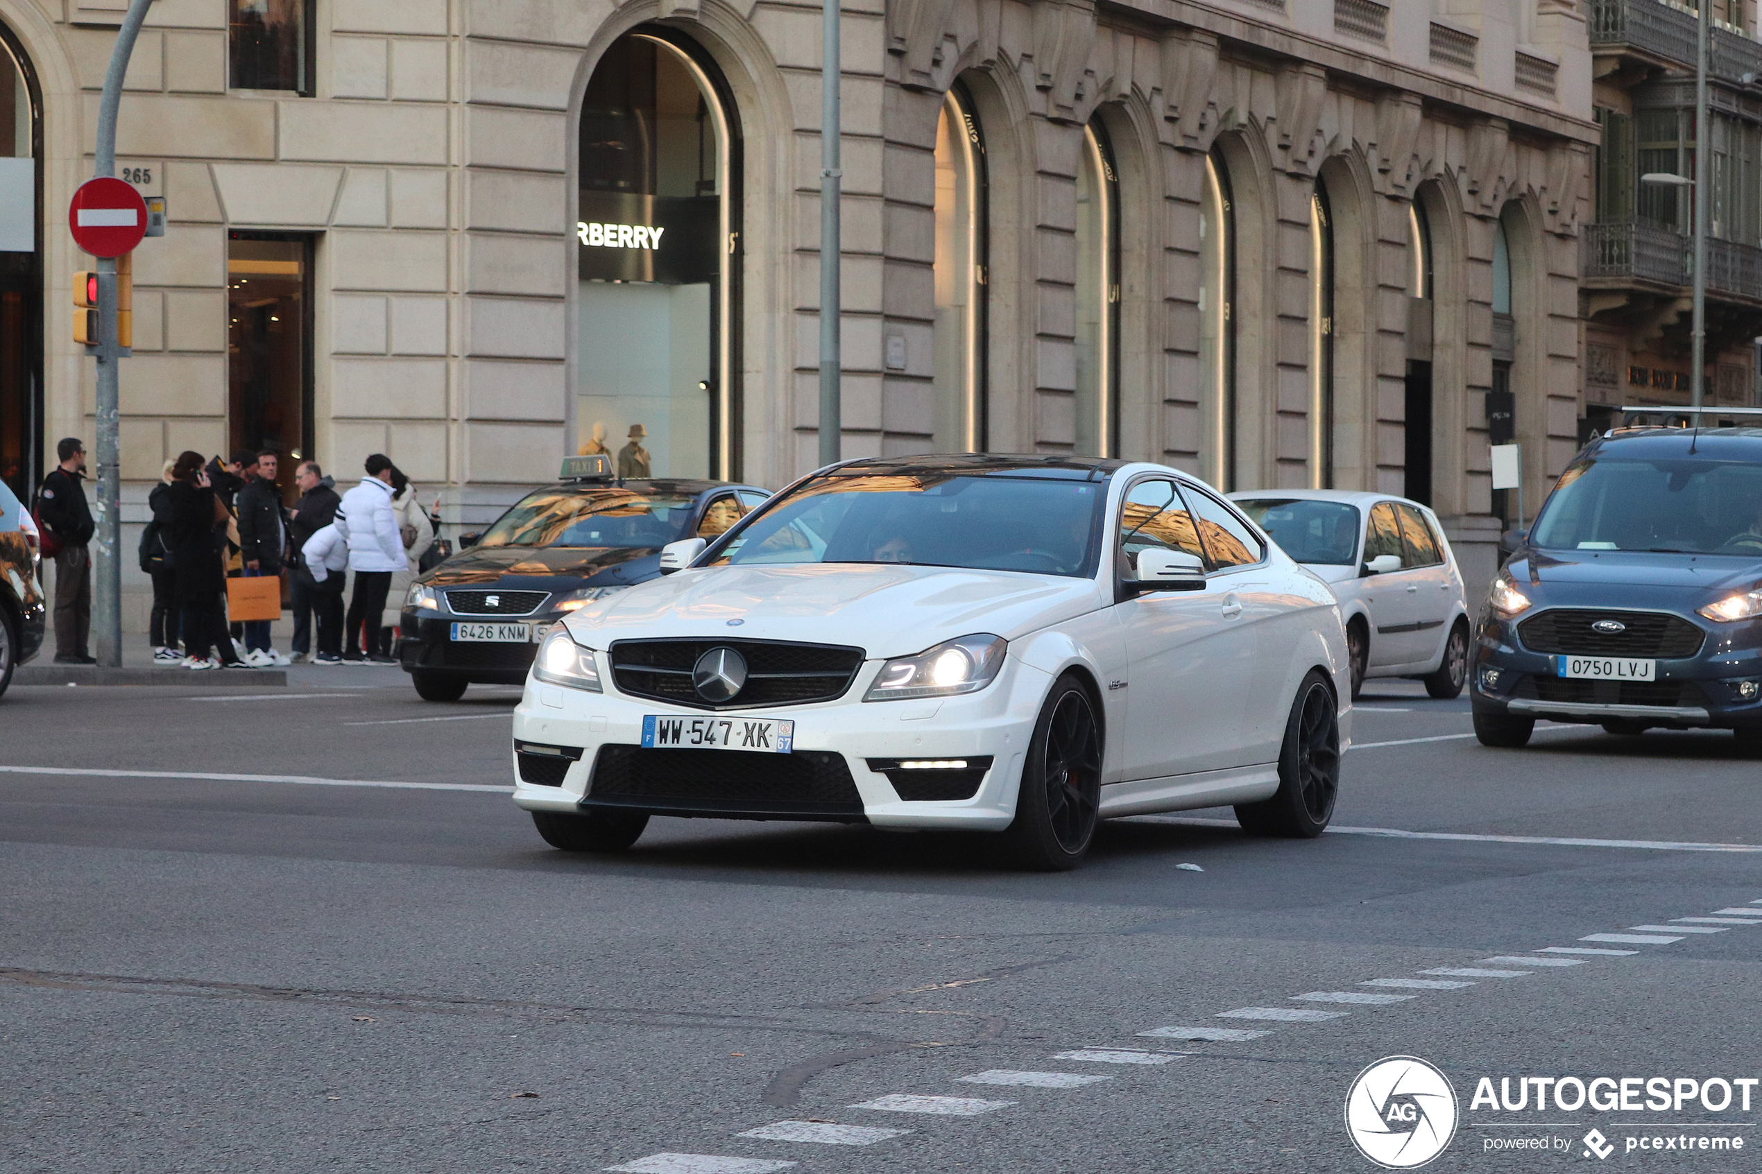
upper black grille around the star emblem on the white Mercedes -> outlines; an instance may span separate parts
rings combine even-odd
[[[712,648],[733,648],[747,662],[747,683],[724,704],[698,697],[691,671]],[[611,646],[611,679],[618,692],[694,709],[833,701],[851,686],[863,649],[786,641],[618,641]]]

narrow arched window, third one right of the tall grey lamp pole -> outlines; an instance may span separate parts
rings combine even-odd
[[[1223,157],[1205,157],[1200,195],[1200,419],[1205,479],[1235,489],[1235,224]]]

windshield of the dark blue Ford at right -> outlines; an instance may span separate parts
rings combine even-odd
[[[1561,473],[1529,540],[1547,549],[1762,558],[1762,465],[1577,461]]]

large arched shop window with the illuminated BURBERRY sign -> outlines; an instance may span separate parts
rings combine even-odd
[[[606,49],[581,100],[576,447],[631,477],[740,468],[740,132],[671,28]]]

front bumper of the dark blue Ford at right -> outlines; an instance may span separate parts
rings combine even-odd
[[[1709,632],[1695,657],[1658,658],[1655,681],[1581,681],[1559,678],[1552,655],[1524,648],[1514,623],[1482,616],[1470,665],[1470,699],[1475,713],[1547,722],[1639,722],[1667,729],[1762,725],[1762,646],[1757,644],[1762,632],[1748,632],[1751,625],[1730,627],[1730,632]],[[1746,681],[1751,683],[1750,697],[1743,695]]]

